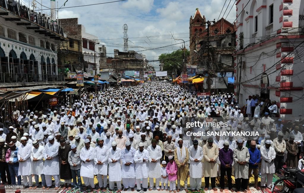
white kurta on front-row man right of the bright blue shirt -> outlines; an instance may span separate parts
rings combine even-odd
[[[260,148],[261,157],[262,157],[262,165],[261,165],[261,173],[262,174],[274,174],[275,173],[275,148],[266,146],[262,146]],[[267,162],[266,162],[267,161]]]

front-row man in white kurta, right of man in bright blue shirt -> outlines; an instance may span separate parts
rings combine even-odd
[[[267,188],[271,188],[273,174],[275,173],[275,148],[271,147],[271,141],[268,139],[265,145],[260,148],[262,165],[261,165],[261,187],[266,185],[267,177]]]

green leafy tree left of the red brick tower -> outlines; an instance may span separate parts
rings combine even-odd
[[[189,50],[185,50],[185,58],[190,55]],[[168,75],[174,72],[175,75],[180,75],[183,70],[183,50],[176,50],[170,54],[161,54],[158,59],[163,65],[163,70],[168,71]],[[186,64],[186,62],[185,62]]]

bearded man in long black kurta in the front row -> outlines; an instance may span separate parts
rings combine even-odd
[[[71,145],[67,145],[64,139],[60,139],[60,148],[58,150],[58,157],[60,163],[60,179],[64,179],[63,190],[68,187],[71,190],[72,173],[68,163],[69,152],[71,151]]]

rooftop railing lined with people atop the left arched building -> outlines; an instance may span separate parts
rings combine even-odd
[[[7,4],[6,4],[7,2]],[[44,14],[35,12],[34,10],[26,7],[25,5],[19,4],[19,1],[16,0],[0,0],[0,6],[6,8],[14,13],[15,15],[20,16],[28,21],[35,23],[43,28],[50,30],[58,35],[64,36],[63,29],[58,25],[57,21],[51,21]]]

